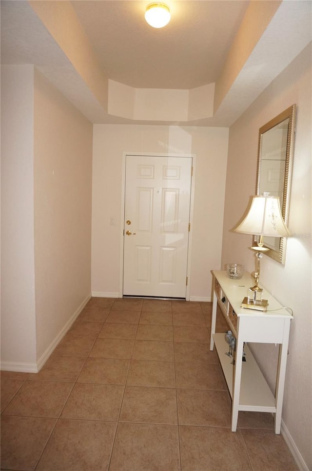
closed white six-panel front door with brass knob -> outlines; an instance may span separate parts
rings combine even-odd
[[[126,156],[123,295],[186,297],[191,157]]]

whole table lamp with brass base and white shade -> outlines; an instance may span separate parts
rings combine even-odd
[[[270,196],[264,193],[261,196],[253,196],[247,216],[234,227],[234,232],[259,236],[257,245],[250,247],[256,251],[256,270],[254,272],[254,286],[249,290],[248,297],[242,301],[242,308],[266,311],[268,301],[262,299],[262,288],[259,288],[260,258],[262,253],[269,250],[264,246],[263,237],[288,237],[290,232],[285,225],[278,196]]]

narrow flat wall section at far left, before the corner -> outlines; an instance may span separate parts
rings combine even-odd
[[[1,367],[36,364],[32,65],[1,65]]]

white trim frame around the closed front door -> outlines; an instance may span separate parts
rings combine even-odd
[[[191,201],[190,201],[190,224],[189,248],[187,256],[187,279],[186,300],[190,300],[191,287],[191,260],[192,260],[192,240],[193,240],[193,215],[194,215],[194,193],[195,193],[195,165],[196,154],[178,154],[170,152],[122,152],[122,176],[121,176],[121,209],[120,209],[120,263],[119,263],[119,298],[123,296],[123,245],[124,245],[124,214],[125,214],[125,186],[126,186],[126,155],[146,155],[147,157],[192,157],[193,174],[191,182]]]

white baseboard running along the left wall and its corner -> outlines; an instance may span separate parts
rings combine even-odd
[[[45,350],[45,352],[41,355],[37,363],[14,363],[14,362],[1,362],[0,369],[2,371],[19,371],[23,373],[38,373],[42,366],[45,364],[45,362],[48,360],[50,357],[51,353],[54,351],[54,349],[58,346],[59,342],[62,340],[66,332],[69,330],[69,328],[72,326],[72,324],[76,321],[78,318],[80,312],[84,308],[84,306],[87,304],[87,302],[90,300],[91,294],[88,295],[80,304],[80,306],[76,309],[74,314],[71,316],[71,318],[66,322],[62,330],[59,332],[59,334],[56,336],[56,338],[53,340],[53,342],[50,343],[48,348]]]

